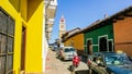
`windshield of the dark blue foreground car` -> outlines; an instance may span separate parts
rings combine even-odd
[[[106,64],[107,65],[123,65],[132,63],[127,55],[123,54],[113,54],[106,55]]]

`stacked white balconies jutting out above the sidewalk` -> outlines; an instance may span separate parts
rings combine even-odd
[[[57,0],[45,0],[45,32],[47,40],[53,32],[54,17],[57,8]]]

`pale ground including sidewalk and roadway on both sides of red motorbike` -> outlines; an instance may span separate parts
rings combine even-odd
[[[70,72],[72,61],[63,61],[56,57],[56,52],[48,49],[46,58],[45,74],[88,74],[88,67],[85,62],[80,62],[75,72]]]

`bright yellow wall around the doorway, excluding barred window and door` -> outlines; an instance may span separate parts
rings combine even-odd
[[[20,74],[21,69],[22,23],[26,27],[25,72],[42,72],[43,0],[0,0],[0,7],[15,21],[14,73]]]

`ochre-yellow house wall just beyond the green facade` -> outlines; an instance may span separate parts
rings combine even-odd
[[[84,50],[84,34],[77,34],[70,38],[68,38],[65,42],[64,46],[70,46],[70,42],[74,42],[74,47],[77,50]]]

